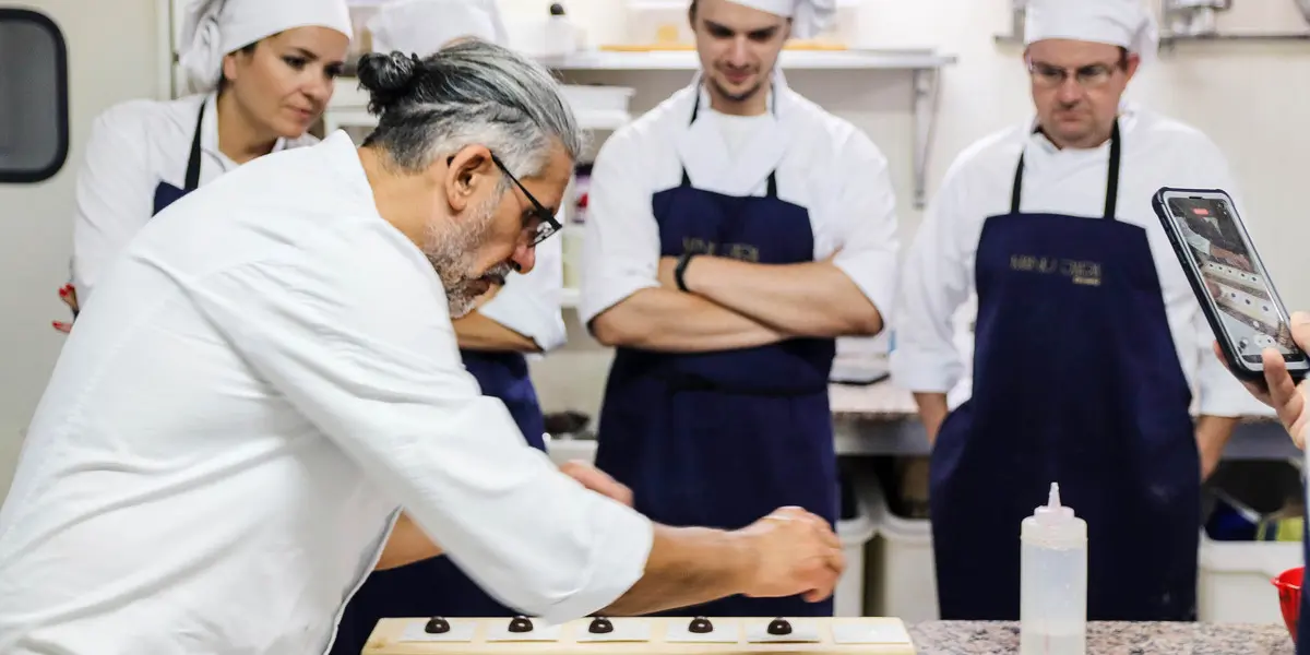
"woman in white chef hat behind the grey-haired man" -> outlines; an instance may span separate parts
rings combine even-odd
[[[92,124],[77,173],[72,284],[60,291],[75,317],[156,214],[241,164],[317,140],[308,130],[331,98],[350,39],[345,0],[187,7],[179,64],[190,94],[127,101]]]

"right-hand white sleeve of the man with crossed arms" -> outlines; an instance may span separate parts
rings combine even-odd
[[[878,308],[886,326],[893,312],[900,255],[896,193],[887,157],[863,132],[857,132],[842,160],[849,160],[849,174],[836,207],[845,214],[845,229],[833,266]]]

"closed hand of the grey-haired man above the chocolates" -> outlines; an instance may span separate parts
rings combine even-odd
[[[755,558],[741,592],[755,597],[803,593],[810,603],[832,596],[846,567],[841,540],[828,521],[799,507],[782,507],[738,531]]]

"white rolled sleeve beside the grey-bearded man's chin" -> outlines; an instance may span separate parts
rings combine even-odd
[[[537,343],[542,352],[569,341],[559,309],[563,249],[555,234],[537,245],[537,263],[527,275],[511,274],[499,293],[478,308],[482,316]]]

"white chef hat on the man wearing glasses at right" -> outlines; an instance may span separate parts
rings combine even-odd
[[[1145,62],[1159,48],[1159,28],[1141,0],[1028,0],[1024,42],[1044,39],[1108,43]]]

